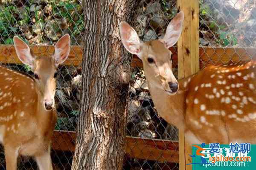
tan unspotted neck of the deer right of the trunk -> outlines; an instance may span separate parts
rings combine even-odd
[[[150,82],[150,81],[148,81]],[[179,91],[174,95],[167,94],[164,90],[148,83],[149,91],[153,99],[157,112],[168,123],[175,125],[179,129],[184,128],[185,115],[185,92]]]

